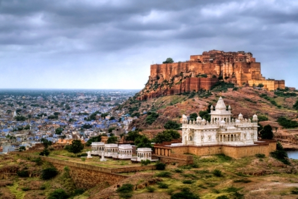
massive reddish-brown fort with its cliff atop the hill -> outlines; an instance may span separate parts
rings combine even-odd
[[[186,62],[151,65],[149,80],[138,100],[210,90],[219,81],[236,87],[262,85],[268,91],[285,89],[284,80],[262,76],[261,63],[252,53],[211,50],[191,55]]]

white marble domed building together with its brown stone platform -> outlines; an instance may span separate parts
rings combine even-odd
[[[231,119],[231,107],[224,104],[222,97],[215,109],[211,106],[211,121],[197,117],[191,121],[186,115],[182,116],[182,143],[154,144],[155,156],[177,161],[184,158],[185,153],[198,156],[225,154],[232,158],[265,154],[276,150],[276,140],[258,140],[258,116],[252,120],[243,118]],[[175,159],[175,160],[174,160]]]

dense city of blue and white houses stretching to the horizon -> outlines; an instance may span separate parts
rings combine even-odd
[[[21,146],[34,148],[42,138],[56,145],[65,145],[73,139],[86,142],[100,134],[109,137],[112,132],[119,137],[127,132],[133,117],[124,110],[113,111],[113,107],[136,92],[1,90],[0,150],[7,153]]]

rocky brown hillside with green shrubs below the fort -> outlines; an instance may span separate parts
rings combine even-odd
[[[215,90],[227,90],[227,84],[215,88]],[[224,87],[224,89],[223,89]],[[127,112],[140,115],[131,124],[131,128],[136,126],[142,129],[160,129],[168,120],[180,121],[182,114],[190,115],[201,110],[207,110],[208,105],[216,105],[220,97],[218,92],[193,92],[180,95],[165,96],[148,100],[137,100],[138,94],[118,108],[124,108]],[[224,91],[222,97],[226,105],[231,106],[232,117],[238,117],[241,112],[245,118],[252,117],[253,114],[265,116],[267,123],[279,126],[276,120],[281,116],[289,119],[296,119],[298,111],[293,105],[298,100],[297,92],[282,91],[268,92],[253,89],[250,87],[238,88],[233,91]],[[143,114],[143,112],[156,112],[157,114]]]

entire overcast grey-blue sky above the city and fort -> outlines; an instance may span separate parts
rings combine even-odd
[[[0,88],[142,89],[213,49],[298,88],[298,0],[0,0]]]

